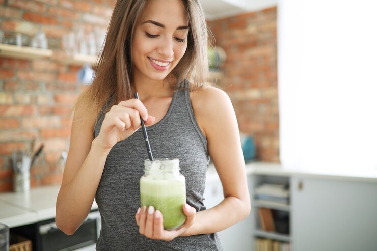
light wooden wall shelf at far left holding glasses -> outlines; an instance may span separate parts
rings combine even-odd
[[[52,50],[11,44],[0,44],[0,56],[17,59],[40,59],[50,58],[51,55]]]

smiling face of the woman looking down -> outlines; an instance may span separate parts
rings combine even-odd
[[[186,51],[188,25],[181,0],[148,1],[132,39],[134,79],[163,80]]]

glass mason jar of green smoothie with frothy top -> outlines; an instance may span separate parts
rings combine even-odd
[[[186,180],[179,170],[179,159],[147,159],[140,178],[141,206],[161,211],[166,230],[176,229],[186,220],[182,208],[186,203]]]

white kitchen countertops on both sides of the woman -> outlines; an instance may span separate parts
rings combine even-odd
[[[353,180],[363,182],[377,182],[377,171],[360,173],[334,172],[303,172],[285,169],[279,163],[251,162],[246,164],[246,174],[265,174],[289,177],[310,177]],[[213,164],[209,165],[206,181],[219,180]],[[0,193],[0,222],[10,228],[31,224],[55,217],[55,204],[60,186],[43,186],[31,189],[29,192],[3,192]],[[92,209],[97,209],[93,202]]]

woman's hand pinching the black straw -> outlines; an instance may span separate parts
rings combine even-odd
[[[105,151],[110,151],[113,146],[131,136],[141,127],[140,116],[144,118],[145,125],[155,121],[149,116],[147,109],[139,99],[129,99],[113,105],[105,114],[101,129],[95,138],[96,143]]]

